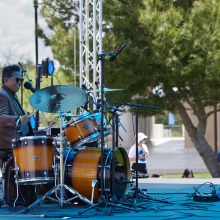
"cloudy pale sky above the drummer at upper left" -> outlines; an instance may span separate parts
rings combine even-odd
[[[38,24],[46,28],[39,7]],[[34,0],[0,0],[0,24],[0,65],[7,64],[7,60],[13,64],[22,63],[27,58],[35,63]],[[38,39],[38,63],[47,57],[53,59],[52,52]]]

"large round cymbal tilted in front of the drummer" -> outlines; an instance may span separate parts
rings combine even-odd
[[[68,112],[84,105],[86,92],[76,86],[58,85],[37,90],[30,97],[30,104],[42,112]]]

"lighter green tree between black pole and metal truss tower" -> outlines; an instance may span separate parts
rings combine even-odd
[[[74,66],[74,56],[79,56],[78,51],[74,54],[74,29],[77,32],[78,20],[77,1],[45,0],[41,14],[46,19],[50,33],[45,34],[41,27],[38,27],[38,36],[44,39],[47,46],[51,46],[54,58],[60,63],[60,71],[65,74],[69,83],[74,84],[74,70],[79,69],[78,65]],[[76,36],[78,39],[77,33]]]

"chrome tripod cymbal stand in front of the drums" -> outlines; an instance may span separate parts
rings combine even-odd
[[[57,201],[58,203],[60,203],[60,205],[63,207],[65,203],[68,203],[76,198],[80,198],[82,201],[84,201],[85,203],[87,203],[88,205],[93,205],[93,203],[91,201],[89,201],[86,197],[82,196],[81,194],[79,194],[76,190],[74,190],[73,188],[67,186],[66,184],[64,184],[64,160],[63,160],[63,114],[59,113],[59,118],[60,118],[60,148],[59,148],[59,154],[60,154],[60,183],[58,185],[56,185],[55,187],[53,187],[51,190],[49,190],[44,196],[40,197],[38,200],[36,200],[33,204],[31,204],[26,210],[25,212],[29,211],[31,208],[33,208],[35,205],[39,204],[42,200],[44,200],[45,198],[49,198],[53,201]],[[75,195],[74,197],[65,200],[65,190],[68,190],[69,192],[71,192],[73,195]],[[57,196],[57,199],[51,198],[50,195],[52,195],[53,193],[59,192],[59,198]]]

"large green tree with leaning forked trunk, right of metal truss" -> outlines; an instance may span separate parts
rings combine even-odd
[[[220,111],[219,11],[217,0],[103,1],[105,51],[128,42],[115,62],[105,63],[105,86],[126,92],[108,98],[176,110],[213,177],[220,176],[220,165],[205,132],[213,107]]]

